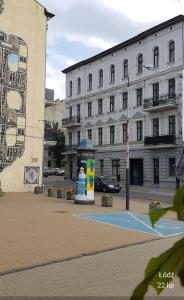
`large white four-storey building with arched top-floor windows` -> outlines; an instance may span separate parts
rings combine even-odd
[[[130,184],[175,187],[183,64],[184,16],[179,15],[63,70],[69,177],[79,141],[89,138],[97,150],[97,175],[125,180],[128,117]]]

